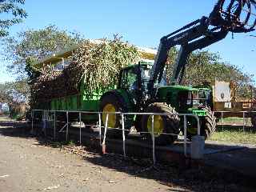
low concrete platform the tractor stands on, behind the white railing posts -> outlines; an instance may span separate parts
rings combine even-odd
[[[66,133],[60,138],[66,139]],[[70,127],[69,138],[79,140],[77,127]],[[98,151],[102,150],[97,130],[82,128],[82,143]],[[106,152],[123,154],[122,139],[107,138]],[[126,155],[135,158],[152,158],[152,143],[142,140],[138,134],[130,134],[126,138]],[[184,155],[184,143],[181,139],[170,146],[156,146],[155,156],[157,162],[178,163],[179,166],[187,166],[188,161],[191,160],[190,142],[187,143],[187,156]],[[214,167],[214,169],[232,170],[256,178],[256,144],[242,145],[206,141],[204,158],[200,163]]]

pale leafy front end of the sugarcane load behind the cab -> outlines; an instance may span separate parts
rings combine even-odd
[[[90,95],[113,89],[122,67],[138,59],[138,50],[115,36],[97,44],[84,42],[74,59],[82,68],[85,90]]]

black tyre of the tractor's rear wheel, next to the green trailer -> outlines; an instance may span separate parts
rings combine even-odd
[[[125,113],[127,112],[126,109],[126,103],[124,100],[116,95],[116,94],[106,94],[105,96],[103,95],[100,105],[99,105],[99,110],[104,111],[105,107],[107,105],[111,105],[114,107],[115,112],[122,112]],[[102,114],[102,134],[104,134],[104,122],[106,122],[106,116],[105,114]],[[105,118],[105,119],[104,119]],[[119,128],[122,129],[122,116],[121,114],[109,114],[109,119],[112,118],[114,119],[114,122],[108,123],[108,130],[106,131],[106,137],[107,138],[122,138],[122,130],[116,130],[116,129],[111,129],[111,128]],[[126,125],[126,123],[125,123]],[[125,134],[129,134],[130,132],[130,126],[125,127],[126,132]]]

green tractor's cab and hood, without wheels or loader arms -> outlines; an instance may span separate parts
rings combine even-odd
[[[154,85],[154,95],[149,95],[147,86],[150,81],[152,64],[140,62],[123,68],[119,74],[118,90],[126,91],[134,106],[142,106],[142,103],[148,105],[151,102],[162,102],[174,106],[179,113],[186,113],[188,110],[198,110],[206,104],[204,92],[190,86],[168,86],[166,75],[162,75],[161,82]],[[150,98],[154,100],[150,101]],[[146,110],[146,106],[144,108]]]

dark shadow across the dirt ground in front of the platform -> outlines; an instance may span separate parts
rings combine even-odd
[[[0,134],[8,137],[36,138],[39,145],[60,147],[65,142],[51,142],[49,139],[30,134],[30,125],[27,122],[0,122]],[[99,155],[99,151],[86,147],[89,154],[82,158],[98,166],[110,170],[125,172],[133,177],[148,178],[170,186],[170,191],[178,187],[192,191],[254,191],[254,179],[238,174],[233,170],[217,170],[211,166],[197,168],[178,167],[174,165],[158,165],[150,167],[149,159],[122,158],[117,154]],[[250,154],[250,152],[249,152]],[[174,188],[174,189],[173,189]]]

